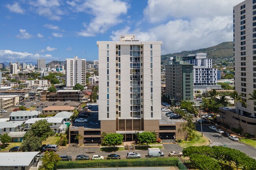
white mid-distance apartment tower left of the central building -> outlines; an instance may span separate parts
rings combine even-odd
[[[66,59],[66,86],[73,87],[77,83],[86,85],[86,60],[82,58]]]

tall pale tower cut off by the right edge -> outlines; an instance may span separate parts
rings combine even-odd
[[[256,90],[256,0],[233,7],[235,90],[247,105],[237,102],[241,115],[256,116],[256,103],[250,98]],[[255,104],[255,105],[254,105]]]

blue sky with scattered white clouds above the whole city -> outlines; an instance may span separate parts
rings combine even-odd
[[[232,41],[243,0],[1,0],[0,62],[98,59],[96,41],[135,34],[161,54]]]

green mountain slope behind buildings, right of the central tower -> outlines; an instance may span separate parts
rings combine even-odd
[[[230,58],[233,57],[233,42],[223,42],[213,47],[196,49],[192,51],[182,51],[180,53],[170,53],[166,55],[161,55],[161,62],[168,62],[169,57],[174,57],[177,55],[186,56],[188,54],[195,53],[207,53],[208,58]]]

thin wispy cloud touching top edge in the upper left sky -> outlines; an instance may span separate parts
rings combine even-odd
[[[31,9],[39,16],[44,16],[50,20],[61,20],[65,10],[61,9],[61,0],[36,0],[30,1]]]

